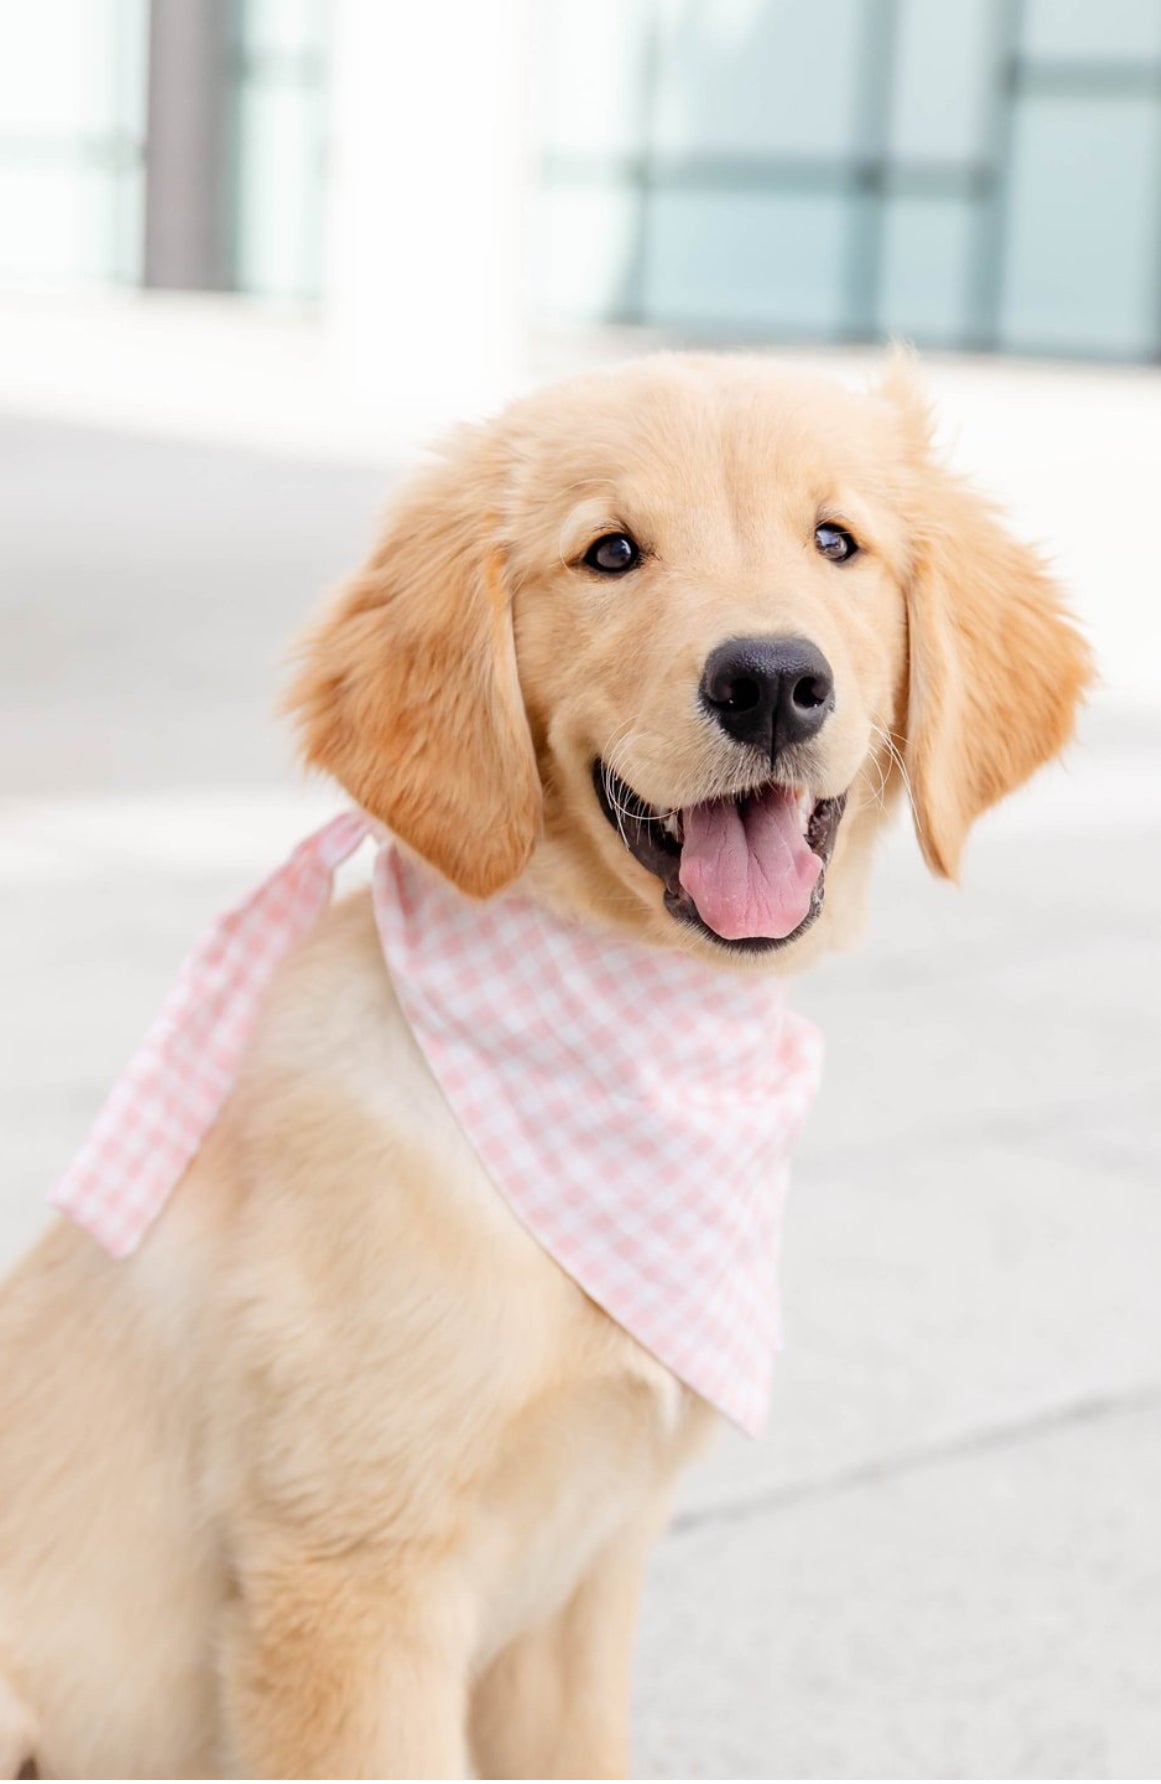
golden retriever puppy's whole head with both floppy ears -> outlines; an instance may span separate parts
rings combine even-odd
[[[462,434],[307,640],[310,764],[476,897],[722,963],[861,906],[904,780],[954,874],[1054,755],[1088,653],[931,453],[906,368],[852,396],[662,355]]]

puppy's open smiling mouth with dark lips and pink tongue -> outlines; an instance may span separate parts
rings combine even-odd
[[[592,785],[630,855],[665,887],[665,910],[737,953],[795,942],[822,910],[847,796],[767,781],[733,799],[658,810],[597,758]]]

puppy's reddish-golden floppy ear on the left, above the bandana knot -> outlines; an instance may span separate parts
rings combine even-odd
[[[540,780],[496,539],[503,448],[467,432],[405,491],[303,640],[303,753],[448,880],[487,897],[537,840]]]

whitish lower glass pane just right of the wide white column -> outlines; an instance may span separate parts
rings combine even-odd
[[[628,187],[558,187],[539,205],[535,289],[560,321],[610,321],[637,300],[638,198]]]

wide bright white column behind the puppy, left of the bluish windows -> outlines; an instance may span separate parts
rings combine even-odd
[[[519,380],[528,41],[526,0],[335,0],[328,326],[392,428]]]

